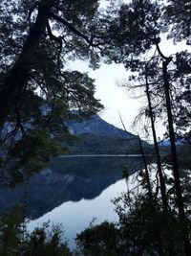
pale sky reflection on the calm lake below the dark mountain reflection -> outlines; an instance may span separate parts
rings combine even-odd
[[[73,248],[76,233],[84,230],[94,218],[96,218],[95,223],[106,220],[117,221],[117,214],[114,211],[114,204],[111,202],[111,198],[117,197],[121,192],[125,192],[126,189],[125,181],[119,180],[94,199],[82,198],[77,202],[68,201],[62,203],[41,218],[31,221],[29,228],[32,230],[35,226],[45,221],[62,223],[65,237],[69,240],[70,247]]]

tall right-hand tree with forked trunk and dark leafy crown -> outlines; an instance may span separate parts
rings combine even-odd
[[[178,12],[180,4],[177,4],[174,8],[172,7],[173,2],[178,3],[177,1],[169,1],[170,5],[168,6],[168,8],[172,8],[172,10],[177,10]],[[186,13],[188,10],[187,7],[189,7],[189,3],[188,5],[186,5],[186,7],[182,7],[182,9],[185,8],[184,11]],[[117,11],[112,10],[112,13],[115,13],[115,15],[113,16],[113,20],[111,22],[111,31],[109,31],[109,35],[111,35],[112,42],[114,42],[117,47],[115,48],[115,51],[108,48],[105,50],[107,58],[112,59],[117,63],[124,63],[127,69],[130,69],[132,72],[136,72],[135,76],[137,76],[137,74],[140,75],[139,79],[141,81],[141,75],[143,73],[142,70],[145,67],[145,63],[148,62],[148,60],[144,57],[144,54],[149,54],[149,50],[151,50],[153,47],[156,48],[156,53],[158,56],[156,62],[157,69],[153,70],[153,74],[152,76],[150,76],[150,79],[154,80],[155,84],[159,84],[158,88],[157,86],[153,86],[152,90],[154,88],[157,88],[157,92],[162,91],[163,100],[161,101],[160,112],[165,111],[167,116],[166,124],[168,126],[168,134],[171,142],[172,166],[175,178],[177,205],[179,209],[179,216],[182,227],[185,255],[189,255],[191,253],[191,246],[188,234],[188,222],[186,220],[184,212],[182,189],[180,185],[180,170],[178,165],[176,136],[174,129],[174,126],[176,124],[176,116],[173,115],[173,111],[175,108],[179,109],[177,112],[180,111],[180,105],[177,105],[174,101],[176,98],[175,95],[179,95],[179,97],[181,98],[185,92],[186,95],[188,93],[189,89],[187,89],[186,86],[187,79],[189,80],[190,71],[186,73],[186,78],[184,80],[186,82],[182,82],[180,75],[177,77],[177,84],[174,83],[176,72],[173,73],[172,70],[169,71],[168,68],[169,64],[173,60],[173,57],[165,57],[162,54],[159,48],[159,42],[161,40],[160,34],[163,32],[167,32],[168,29],[170,30],[169,26],[167,26],[169,25],[167,21],[167,15],[171,15],[171,22],[174,24],[174,32],[178,30],[178,28],[181,28],[182,30],[184,29],[183,31],[181,30],[181,34],[179,34],[179,39],[187,39],[188,30],[186,30],[185,28],[188,28],[190,19],[183,19],[181,20],[181,23],[178,24],[178,20],[180,20],[180,17],[182,15],[179,15],[179,18],[176,19],[174,13],[168,12],[167,9],[165,10],[165,8],[164,11],[162,11],[157,2],[154,3],[153,1],[149,0],[133,0],[128,4],[122,4],[120,7],[118,7]],[[162,19],[164,19],[165,22],[162,22]],[[173,34],[171,33],[169,36],[172,35]],[[177,54],[177,56],[178,55],[179,54]],[[183,53],[180,53],[180,55],[185,57],[185,54]],[[190,55],[188,54],[186,61],[189,61],[189,59]],[[183,68],[183,65],[181,65],[181,63],[182,62],[179,62],[180,66]],[[189,64],[187,65],[187,63],[185,65],[186,67],[189,66]],[[189,70],[189,68],[187,68],[186,70]],[[183,72],[181,74],[183,74]],[[179,90],[179,81],[181,81],[181,85],[183,85],[183,89],[181,90],[181,92]],[[174,84],[176,84],[175,90],[173,87]],[[186,103],[186,105],[188,104],[189,103]],[[187,111],[185,112],[188,113]]]

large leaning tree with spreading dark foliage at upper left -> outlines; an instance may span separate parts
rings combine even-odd
[[[71,58],[90,58],[96,65],[94,49],[103,43],[95,32],[97,8],[96,0],[1,2],[1,129],[10,120],[21,128],[45,119],[42,105],[49,109],[47,122],[55,116],[63,120],[72,107],[93,113],[101,108],[94,81],[64,71]]]

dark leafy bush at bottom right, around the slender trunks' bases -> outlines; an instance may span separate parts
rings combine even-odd
[[[114,200],[124,255],[182,255],[179,219],[159,201],[130,191]]]

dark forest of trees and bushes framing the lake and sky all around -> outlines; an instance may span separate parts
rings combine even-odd
[[[1,185],[27,188],[32,175],[76,142],[66,122],[104,108],[95,81],[66,68],[77,59],[93,69],[124,65],[130,75],[120,86],[145,99],[135,123],[153,140],[155,164],[137,136],[143,162],[138,185],[113,198],[118,221],[91,223],[76,235],[74,251],[59,225],[29,232],[24,201],[1,217],[2,256],[191,255],[191,2],[106,0],[100,8],[102,2],[0,2]],[[166,40],[185,50],[163,54]],[[169,141],[165,155],[162,140]],[[125,167],[123,177],[128,184]]]

